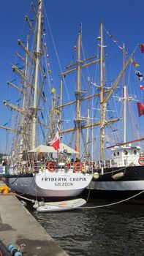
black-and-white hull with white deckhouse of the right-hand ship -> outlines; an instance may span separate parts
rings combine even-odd
[[[144,191],[144,163],[139,146],[113,148],[109,166],[99,168],[97,165],[94,178],[87,187],[91,189],[91,195],[121,199]],[[144,199],[144,192],[137,197]]]

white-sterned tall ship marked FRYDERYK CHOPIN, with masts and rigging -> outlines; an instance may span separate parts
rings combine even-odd
[[[32,17],[25,17],[29,26],[26,41],[18,39],[18,62],[12,64],[15,78],[7,82],[18,98],[17,105],[12,99],[4,100],[13,126],[1,125],[12,133],[12,150],[1,165],[1,176],[12,192],[65,200],[80,195],[88,186],[92,167],[80,161],[79,148],[75,150],[60,138],[61,118],[55,109],[57,95],[43,1],[31,3],[31,10]]]

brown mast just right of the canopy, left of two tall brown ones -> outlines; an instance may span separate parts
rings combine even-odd
[[[81,31],[78,34],[77,42],[77,92],[76,92],[76,150],[80,151],[80,43],[81,43]],[[78,157],[78,156],[77,156]]]

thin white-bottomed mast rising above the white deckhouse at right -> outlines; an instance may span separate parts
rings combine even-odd
[[[123,69],[125,65],[125,45],[123,45]],[[124,143],[126,143],[126,86],[125,86],[125,74],[123,73],[123,104],[124,104]],[[124,144],[124,146],[126,146]]]

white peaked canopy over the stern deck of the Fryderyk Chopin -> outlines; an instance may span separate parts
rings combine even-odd
[[[64,143],[60,143],[60,148],[58,149],[59,153],[63,153],[64,150],[67,150],[68,154],[80,154],[79,152],[75,151],[75,149],[70,148]],[[57,153],[57,151],[50,146],[45,146],[45,145],[39,145],[37,148],[33,148],[28,153]]]

